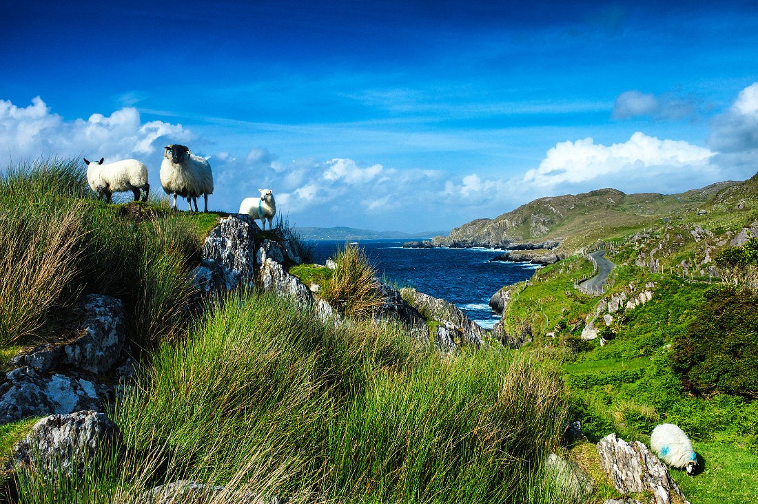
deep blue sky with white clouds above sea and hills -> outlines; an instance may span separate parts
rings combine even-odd
[[[4,2],[0,165],[184,143],[211,209],[403,231],[758,171],[755,2],[528,3]]]

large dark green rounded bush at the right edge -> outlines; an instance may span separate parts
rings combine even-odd
[[[697,393],[758,397],[758,295],[719,286],[686,333],[675,338],[672,367]]]

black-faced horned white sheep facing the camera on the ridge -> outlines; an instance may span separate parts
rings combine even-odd
[[[172,209],[177,208],[177,196],[187,199],[189,211],[192,202],[197,208],[197,197],[205,197],[205,210],[208,211],[208,195],[213,194],[213,171],[205,158],[189,152],[189,147],[171,144],[163,149],[161,162],[161,185],[167,194],[174,195]]]

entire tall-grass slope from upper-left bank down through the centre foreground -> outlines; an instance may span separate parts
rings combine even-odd
[[[543,460],[568,412],[556,368],[504,350],[442,357],[391,321],[335,325],[255,291],[187,310],[218,216],[106,205],[75,161],[8,169],[0,355],[65,337],[77,299],[106,293],[124,300],[140,364],[108,411],[125,452],[80,477],[18,469],[2,498],[136,502],[182,479],[227,487],[199,502],[554,502]],[[0,426],[3,465],[33,421]]]

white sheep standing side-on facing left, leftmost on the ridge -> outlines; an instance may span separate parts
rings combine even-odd
[[[139,199],[139,189],[143,192],[143,202],[147,201],[150,193],[150,184],[147,182],[147,167],[136,159],[124,159],[115,163],[102,164],[105,158],[100,161],[87,161],[87,182],[89,187],[102,198],[105,194],[105,201],[111,202],[113,193],[123,193],[131,191],[134,193],[134,201]]]

